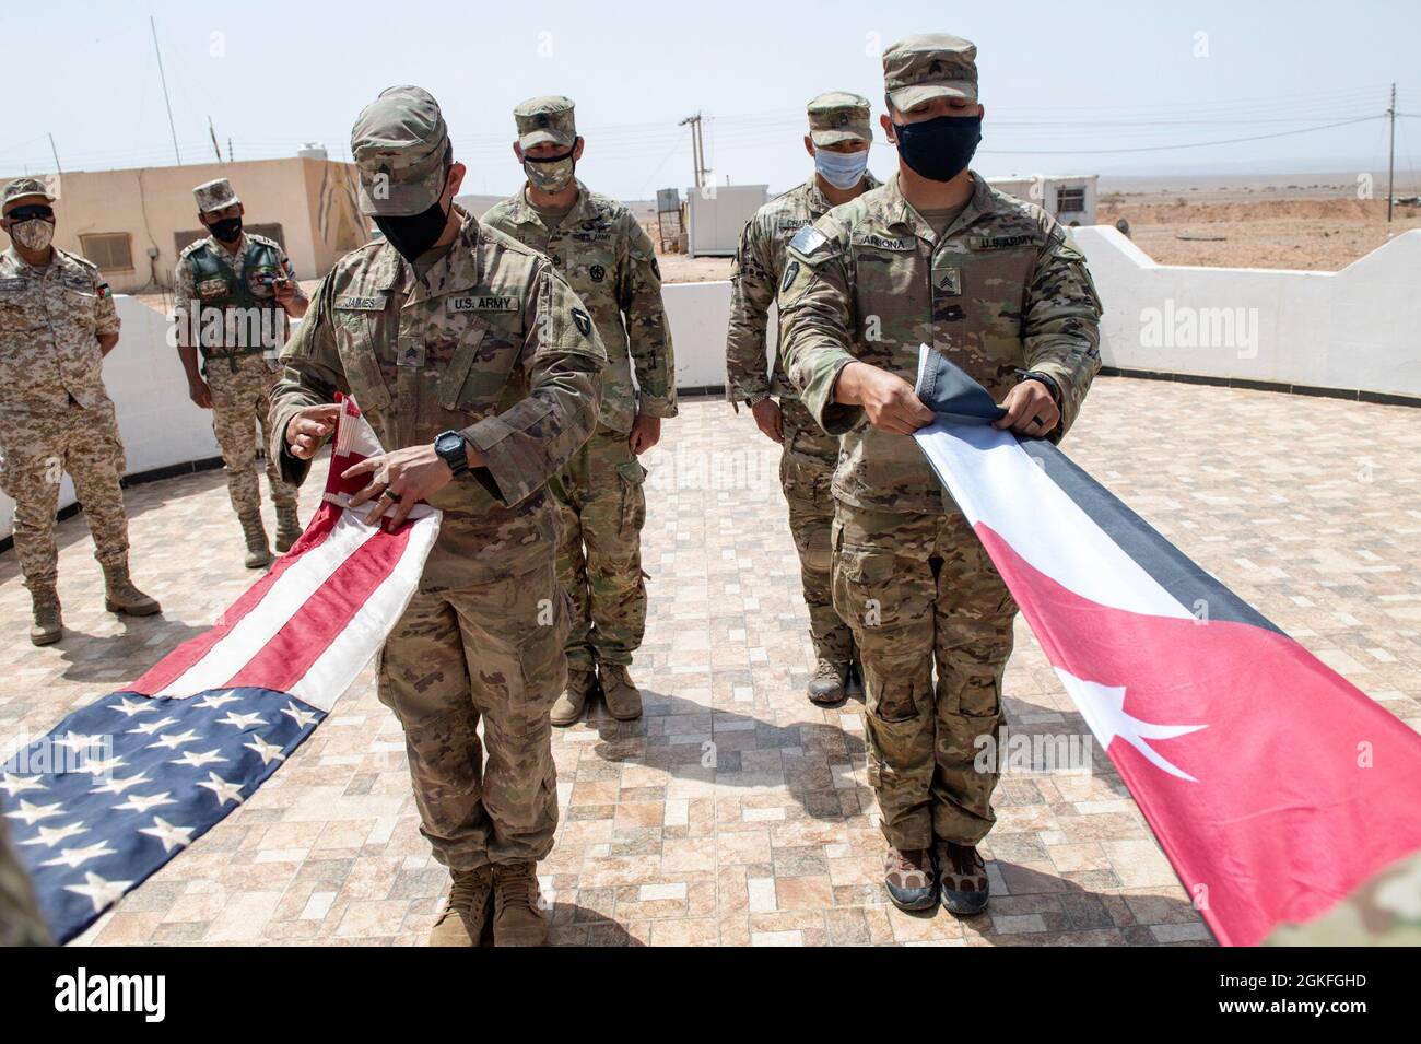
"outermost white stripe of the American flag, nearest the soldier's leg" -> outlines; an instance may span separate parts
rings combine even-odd
[[[415,530],[404,554],[391,568],[335,639],[291,687],[291,696],[320,710],[330,710],[371,656],[384,643],[419,587],[425,558],[439,535],[439,513],[431,511],[412,523]]]

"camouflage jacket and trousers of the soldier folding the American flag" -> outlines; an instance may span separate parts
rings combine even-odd
[[[462,212],[460,212],[462,213]],[[469,214],[416,280],[385,241],[347,254],[281,352],[270,450],[303,406],[352,393],[388,450],[462,430],[486,460],[435,493],[439,538],[379,660],[422,831],[452,869],[541,859],[557,827],[549,710],[567,660],[543,486],[581,446],[605,355],[546,259]],[[483,719],[487,764],[476,729]]]

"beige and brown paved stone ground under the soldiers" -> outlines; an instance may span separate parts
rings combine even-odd
[[[1418,420],[1403,408],[1101,379],[1067,449],[1421,727]],[[541,866],[554,940],[1206,943],[1098,751],[1088,776],[1003,778],[989,915],[887,903],[861,705],[820,710],[801,695],[811,658],[776,460],[747,413],[709,401],[685,403],[648,460],[651,619],[635,665],[647,714],[618,724],[598,709],[557,733],[561,827]],[[135,575],[162,598],[162,618],[102,611],[77,517],[61,527],[70,635],[34,649],[14,554],[0,555],[0,751],[135,678],[252,582],[220,473],[141,486],[126,501]],[[1006,692],[1013,727],[1086,734],[1020,622]],[[367,669],[266,787],[84,939],[418,945],[446,883]]]

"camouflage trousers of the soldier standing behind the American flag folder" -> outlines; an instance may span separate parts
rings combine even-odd
[[[645,479],[627,433],[598,425],[547,486],[557,504],[557,577],[573,602],[571,669],[631,663],[647,631]]]

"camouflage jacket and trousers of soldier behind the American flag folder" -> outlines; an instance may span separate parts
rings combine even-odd
[[[523,190],[496,203],[482,222],[547,254],[583,300],[607,348],[601,422],[549,489],[558,506],[558,577],[573,599],[568,666],[630,665],[647,628],[641,568],[647,469],[627,436],[638,413],[676,415],[655,250],[622,203],[588,192],[581,182],[577,202],[556,229],[543,223]]]

